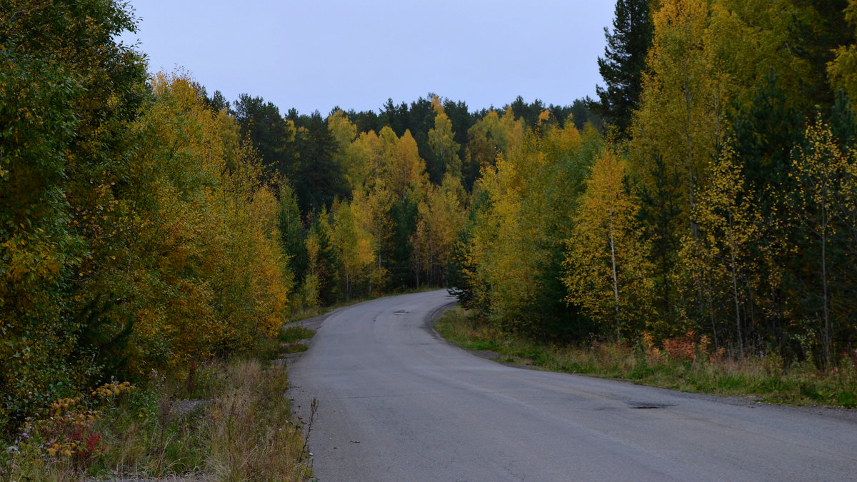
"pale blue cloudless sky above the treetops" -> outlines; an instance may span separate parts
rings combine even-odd
[[[281,112],[378,109],[428,92],[470,110],[595,97],[613,0],[131,0],[149,69]]]

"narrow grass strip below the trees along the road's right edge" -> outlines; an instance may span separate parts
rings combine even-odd
[[[644,339],[635,346],[540,344],[500,333],[461,309],[447,311],[435,329],[464,349],[489,350],[497,353],[498,361],[539,370],[769,403],[857,407],[857,353],[843,358],[833,371],[821,371],[811,363],[784,366],[782,358],[772,354],[730,358],[692,335],[661,344]]]

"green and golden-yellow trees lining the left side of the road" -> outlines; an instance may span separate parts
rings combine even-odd
[[[189,75],[147,80],[113,3],[0,14],[0,425],[276,334],[278,203],[231,116]]]

